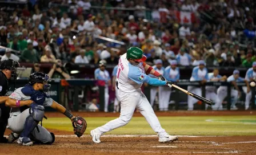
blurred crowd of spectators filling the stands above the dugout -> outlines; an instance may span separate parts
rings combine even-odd
[[[178,66],[205,60],[206,67],[249,68],[256,61],[255,7],[254,0],[1,1],[1,61],[33,63],[33,71],[53,63],[51,78],[70,78],[63,64],[116,65],[136,46],[152,66],[176,59]]]

